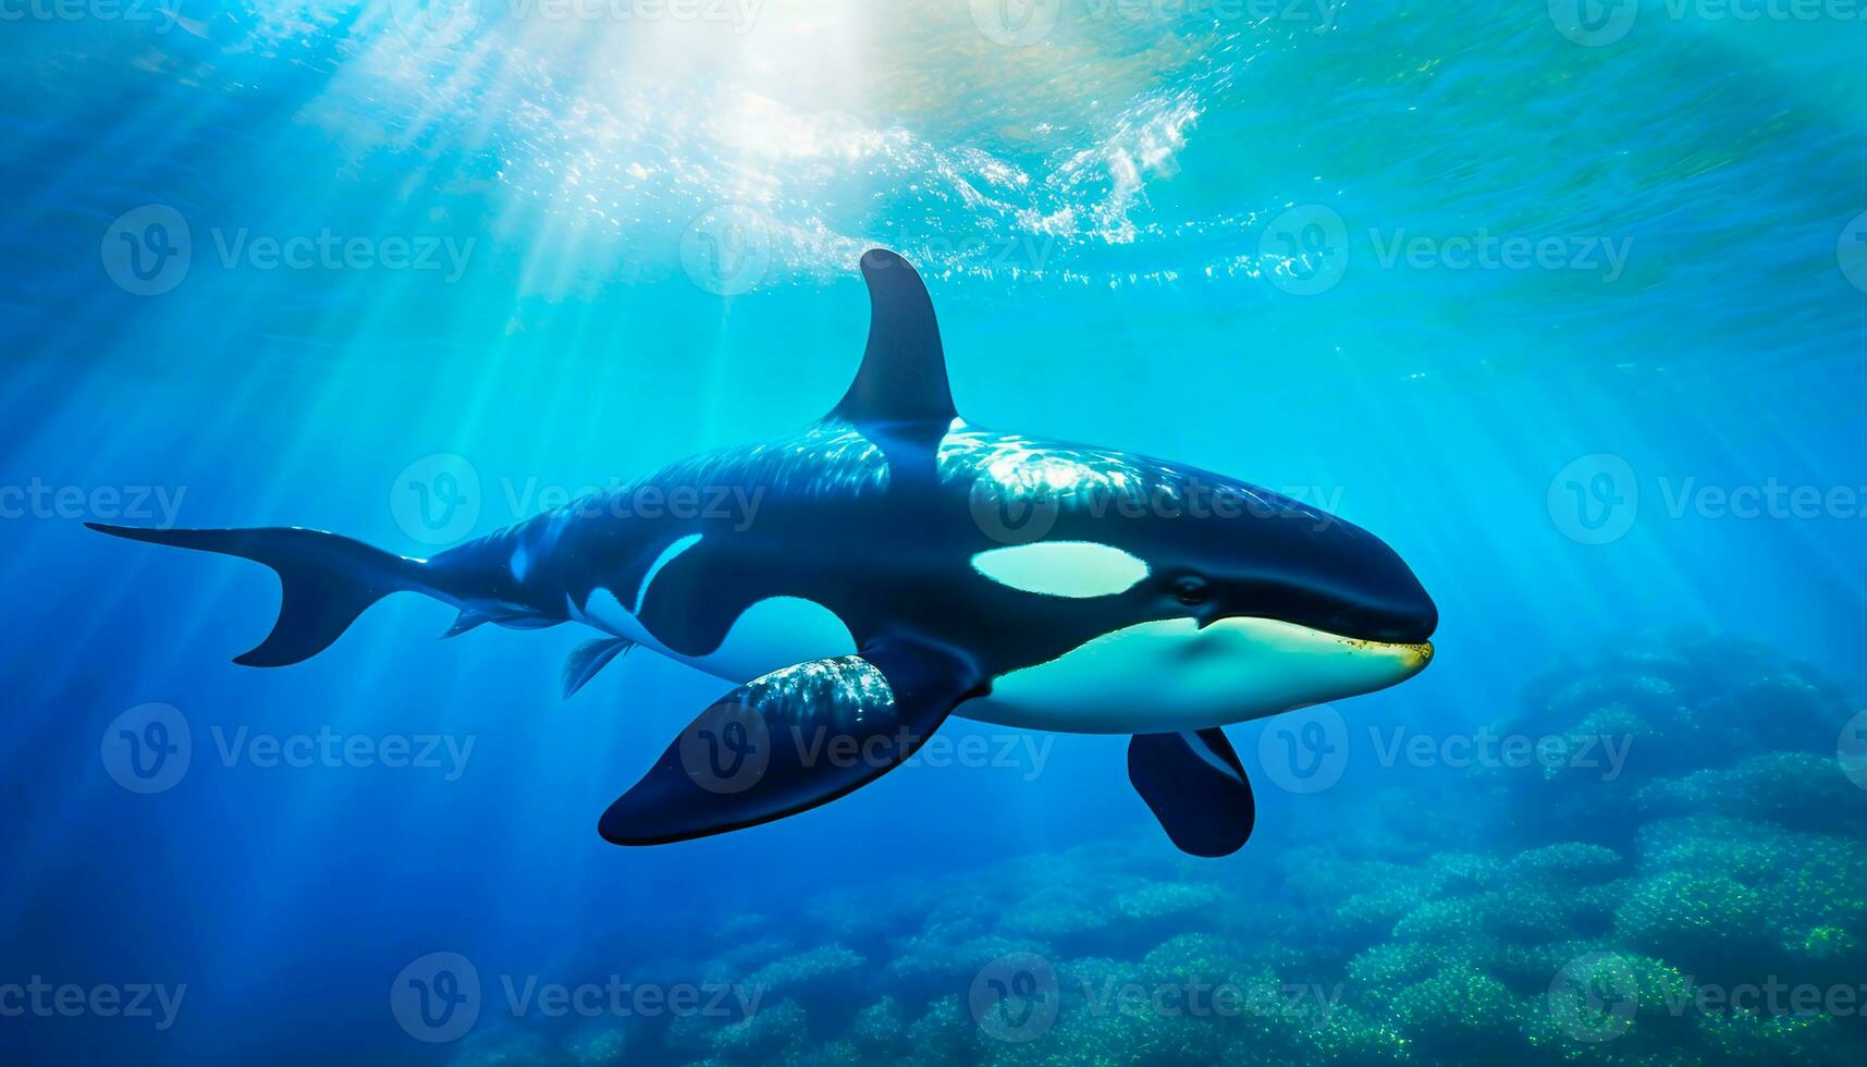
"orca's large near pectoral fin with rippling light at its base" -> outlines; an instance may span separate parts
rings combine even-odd
[[[900,766],[976,688],[967,662],[911,641],[775,671],[689,723],[597,830],[667,845],[829,804]]]

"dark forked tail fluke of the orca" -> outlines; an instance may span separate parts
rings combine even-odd
[[[258,648],[235,656],[246,667],[288,667],[323,652],[372,604],[403,589],[433,592],[420,561],[370,548],[358,540],[295,527],[237,531],[168,531],[84,523],[93,531],[217,551],[263,562],[278,574],[278,622]]]

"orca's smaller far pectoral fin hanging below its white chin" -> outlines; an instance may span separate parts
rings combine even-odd
[[[1128,781],[1182,852],[1230,856],[1251,837],[1256,804],[1225,731],[1135,734]]]

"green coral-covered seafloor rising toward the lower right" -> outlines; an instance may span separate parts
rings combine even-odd
[[[633,975],[751,1013],[482,1024],[457,1063],[1860,1063],[1852,714],[1768,648],[1626,635],[1494,723],[1624,744],[1619,774],[1318,800],[1225,861],[1150,835],[864,884]]]

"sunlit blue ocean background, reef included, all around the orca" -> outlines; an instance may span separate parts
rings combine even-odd
[[[1850,6],[0,11],[6,1061],[1860,1046]],[[719,682],[566,703],[583,633],[418,598],[243,669],[263,568],[82,529],[428,555],[795,430],[874,245],[969,420],[1298,495],[1432,590],[1421,678],[1230,731],[1240,854],[1172,852],[1124,738],[965,721],[614,848]]]

